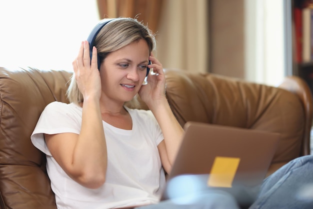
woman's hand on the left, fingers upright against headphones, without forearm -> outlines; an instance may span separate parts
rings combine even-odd
[[[83,99],[100,99],[101,79],[97,68],[97,50],[92,48],[92,58],[90,64],[89,43],[84,40],[81,42],[79,53],[72,62],[75,79]]]

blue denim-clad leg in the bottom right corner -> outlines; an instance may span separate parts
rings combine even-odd
[[[313,208],[313,155],[291,160],[262,183],[250,209]]]

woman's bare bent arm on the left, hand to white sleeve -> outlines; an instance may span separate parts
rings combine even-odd
[[[101,84],[95,48],[93,53],[90,67],[89,44],[84,41],[73,61],[75,79],[84,99],[79,135],[44,135],[47,147],[57,163],[72,179],[88,188],[97,188],[104,183],[107,165],[99,104]]]

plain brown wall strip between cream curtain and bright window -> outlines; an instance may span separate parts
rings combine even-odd
[[[244,78],[244,0],[209,2],[209,71]]]

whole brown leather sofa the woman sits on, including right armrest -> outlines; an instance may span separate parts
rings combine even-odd
[[[309,154],[312,97],[302,79],[287,77],[276,88],[210,73],[165,73],[166,96],[181,125],[192,120],[281,133],[268,173]],[[31,144],[30,134],[46,104],[68,102],[70,76],[0,67],[1,208],[56,208],[45,156]]]

